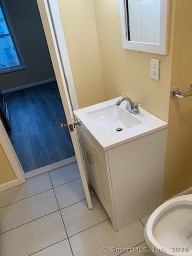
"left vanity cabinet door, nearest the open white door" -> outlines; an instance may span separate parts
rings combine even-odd
[[[98,177],[97,177],[97,172],[94,164],[95,160],[94,160],[93,149],[91,147],[89,140],[87,140],[86,136],[83,134],[81,130],[79,130],[79,137],[82,144],[83,158],[84,158],[88,178],[93,183],[94,189],[98,191]]]

